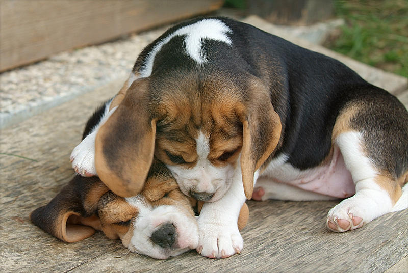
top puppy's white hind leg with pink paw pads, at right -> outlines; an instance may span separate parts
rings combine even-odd
[[[370,140],[364,140],[363,134],[356,131],[342,133],[336,139],[355,183],[356,193],[328,212],[326,226],[332,231],[360,228],[393,211],[397,201],[398,209],[408,207],[408,201],[399,200],[401,185],[406,183],[408,173],[393,179],[387,172],[378,171],[375,160],[370,159],[364,151],[364,141]],[[406,190],[405,185],[404,192]]]

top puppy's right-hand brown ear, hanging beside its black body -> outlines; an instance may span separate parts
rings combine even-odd
[[[253,175],[271,155],[281,138],[282,124],[273,109],[268,89],[258,78],[251,78],[249,100],[238,116],[242,122],[241,172],[244,192],[251,199]]]

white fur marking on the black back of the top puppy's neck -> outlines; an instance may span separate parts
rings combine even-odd
[[[155,45],[147,55],[144,65],[140,70],[140,75],[141,77],[150,76],[156,54],[160,51],[163,45],[167,44],[177,35],[186,35],[184,40],[186,44],[186,53],[197,63],[202,64],[207,61],[206,57],[202,56],[201,52],[202,40],[210,39],[231,45],[232,41],[230,37],[226,35],[226,33],[231,32],[231,29],[218,19],[203,19],[196,23],[183,26],[183,28],[171,33]]]

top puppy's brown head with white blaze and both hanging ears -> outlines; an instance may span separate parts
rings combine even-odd
[[[261,79],[225,68],[157,72],[136,80],[100,128],[95,166],[124,197],[141,188],[155,154],[188,196],[216,201],[242,175],[250,198],[280,134]]]

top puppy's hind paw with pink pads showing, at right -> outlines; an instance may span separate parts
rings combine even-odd
[[[330,209],[327,214],[326,227],[335,232],[361,228],[365,224],[365,216],[361,208],[352,200],[343,200],[340,204]]]

